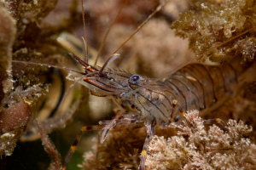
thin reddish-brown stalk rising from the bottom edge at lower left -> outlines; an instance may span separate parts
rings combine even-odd
[[[44,150],[49,154],[51,157],[51,163],[48,167],[49,170],[57,170],[61,167],[61,156],[56,150],[55,145],[50,141],[47,132],[44,131],[43,124],[38,121],[38,133],[41,136],[42,142],[44,144]]]

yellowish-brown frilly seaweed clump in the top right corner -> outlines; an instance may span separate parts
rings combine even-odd
[[[176,29],[177,36],[189,37],[189,48],[198,60],[224,62],[234,55],[254,57],[255,1],[192,1],[191,5],[201,12],[180,14],[171,28]]]

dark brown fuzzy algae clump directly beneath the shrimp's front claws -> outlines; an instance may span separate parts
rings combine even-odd
[[[108,136],[103,144],[93,139],[92,151],[84,153],[84,162],[79,165],[85,169],[135,169],[139,166],[139,155],[145,138],[144,128],[125,129]]]

